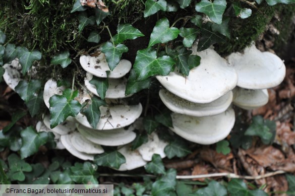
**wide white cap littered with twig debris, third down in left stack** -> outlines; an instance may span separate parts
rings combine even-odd
[[[142,105],[139,103],[138,105],[100,106],[99,109],[100,119],[96,129],[109,130],[132,124],[140,116]],[[79,113],[75,118],[82,125],[92,128],[85,115]]]

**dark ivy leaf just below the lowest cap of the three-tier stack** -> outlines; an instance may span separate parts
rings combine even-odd
[[[188,148],[187,143],[179,138],[173,139],[173,141],[165,147],[164,152],[168,159],[171,159],[175,156],[180,158],[192,153]]]

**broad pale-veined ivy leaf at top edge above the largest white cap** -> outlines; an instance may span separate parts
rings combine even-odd
[[[217,24],[221,24],[222,15],[226,8],[225,0],[214,0],[213,3],[208,0],[202,0],[196,4],[196,11],[208,15],[208,17]]]

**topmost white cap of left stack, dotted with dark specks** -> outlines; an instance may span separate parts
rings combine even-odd
[[[109,75],[106,75],[106,71],[110,71],[104,53],[100,53],[98,56],[83,55],[80,57],[80,64],[82,68],[97,76],[99,78],[122,78],[131,69],[131,62],[129,60],[122,59],[119,64],[113,69]]]

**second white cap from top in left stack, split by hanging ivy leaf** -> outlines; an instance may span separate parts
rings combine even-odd
[[[85,79],[85,81],[84,81],[86,88],[94,95],[100,97],[96,91],[96,87],[89,83],[89,81],[92,79],[93,75],[87,72],[86,77],[87,77],[87,79]],[[125,95],[126,84],[127,84],[126,78],[108,79],[108,88],[105,93],[105,98],[119,99],[119,98],[125,98],[125,97],[132,96],[133,94],[130,94],[128,96]]]

